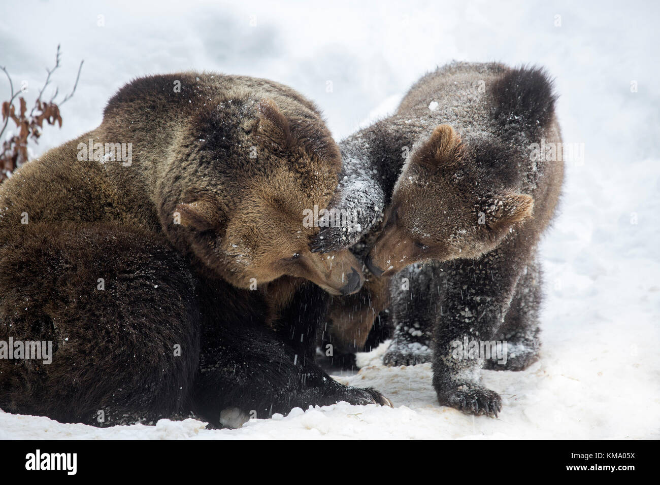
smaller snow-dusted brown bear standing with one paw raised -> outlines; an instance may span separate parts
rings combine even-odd
[[[482,366],[522,370],[538,358],[537,244],[558,203],[563,164],[535,147],[561,146],[555,98],[541,69],[452,63],[422,77],[395,115],[354,135],[352,153],[342,144],[345,160],[362,164],[358,178],[373,174],[385,217],[362,215],[376,221],[364,224],[371,234],[322,230],[314,247],[376,239],[355,251],[369,251],[370,273],[403,270],[390,284],[395,331],[385,363],[432,354],[440,403],[464,412],[500,411],[500,396],[479,383]],[[354,325],[364,336],[364,323]],[[506,345],[508,356],[472,352],[492,344]]]

